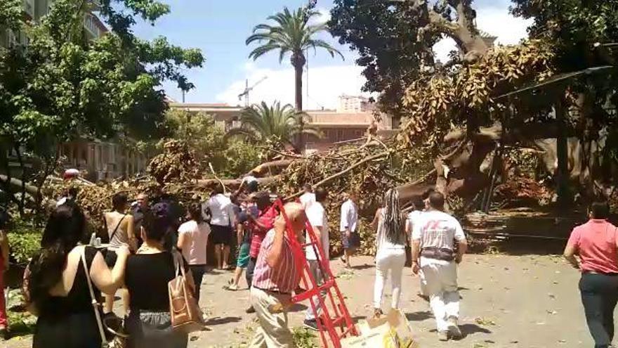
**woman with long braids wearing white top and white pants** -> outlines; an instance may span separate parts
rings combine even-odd
[[[405,266],[406,233],[399,211],[399,195],[393,188],[384,195],[383,207],[376,212],[372,225],[377,226],[376,283],[374,285],[374,314],[382,312],[384,283],[390,271],[390,284],[393,288],[391,308],[399,308],[401,296],[401,277]]]

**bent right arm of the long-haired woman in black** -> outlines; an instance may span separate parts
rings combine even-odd
[[[90,277],[96,287],[105,294],[113,294],[124,282],[126,259],[129,257],[129,247],[121,245],[116,249],[118,258],[112,271],[105,264],[105,259],[97,252],[90,266]]]

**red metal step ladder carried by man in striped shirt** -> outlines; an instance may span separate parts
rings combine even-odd
[[[358,332],[352,318],[350,318],[350,312],[348,311],[348,307],[346,307],[346,302],[343,300],[343,295],[341,295],[335,277],[331,272],[328,259],[324,256],[324,250],[322,250],[320,244],[317,243],[317,238],[315,237],[315,233],[313,233],[313,228],[311,224],[309,224],[309,221],[305,222],[305,229],[310,240],[305,240],[305,243],[301,244],[298,242],[294,231],[291,229],[289,219],[285,214],[281,200],[275,202],[275,207],[283,213],[282,216],[286,222],[287,233],[291,242],[292,252],[294,252],[294,257],[297,262],[300,261],[303,265],[301,280],[305,291],[294,295],[291,302],[298,303],[305,301],[305,299],[309,299],[311,310],[317,322],[317,329],[320,332],[322,347],[341,348],[342,338],[352,335],[357,336]],[[313,274],[311,274],[309,262],[307,262],[305,258],[303,247],[313,247],[317,255],[320,271],[322,271],[322,278],[324,278],[322,285],[317,285]],[[324,297],[320,295],[322,292],[325,292]],[[317,313],[318,305],[321,313]]]

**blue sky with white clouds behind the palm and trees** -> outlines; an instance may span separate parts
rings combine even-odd
[[[206,58],[202,68],[185,70],[196,86],[185,95],[187,103],[228,103],[244,105],[238,94],[249,85],[258,83],[249,94],[249,103],[281,101],[294,103],[294,70],[286,57],[279,62],[278,53],[268,53],[258,60],[250,60],[255,45],[246,46],[245,39],[257,24],[266,22],[268,15],[284,6],[298,8],[306,0],[162,0],[171,6],[171,13],[155,25],[139,22],[134,32],[143,39],[165,36],[172,43],[185,48],[201,49]],[[477,23],[480,30],[498,37],[500,44],[515,44],[526,37],[529,22],[508,13],[508,0],[477,0]],[[332,0],[318,0],[318,21],[329,19]],[[344,59],[331,58],[326,51],[310,51],[308,74],[303,79],[305,109],[336,108],[338,96],[365,95],[361,87],[362,67],[355,65],[357,55],[348,46],[338,44],[328,33],[322,39],[343,53]],[[454,41],[445,39],[434,47],[438,59],[445,60],[454,49]],[[308,81],[307,81],[308,79]],[[308,82],[308,83],[307,83]],[[308,86],[308,89],[307,89]],[[166,94],[176,101],[182,96],[176,84],[163,85]]]

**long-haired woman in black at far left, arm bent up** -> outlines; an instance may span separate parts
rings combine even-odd
[[[78,245],[84,239],[86,219],[74,202],[66,202],[51,214],[25,278],[29,310],[39,316],[34,329],[34,348],[99,348],[101,337],[92,305],[86,271],[95,296],[114,293],[124,276],[129,248],[117,250],[110,271],[103,255],[93,247]],[[81,262],[85,256],[88,269]]]

